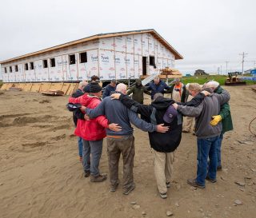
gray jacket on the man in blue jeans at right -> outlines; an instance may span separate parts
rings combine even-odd
[[[214,115],[218,115],[220,105],[229,100],[230,94],[226,90],[222,94],[211,93],[197,107],[178,105],[178,111],[185,116],[196,117],[195,134],[198,138],[216,137],[222,132],[222,122],[212,126],[210,121]]]

